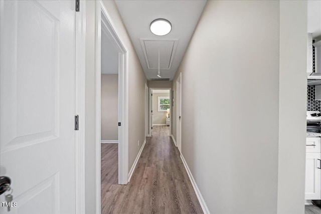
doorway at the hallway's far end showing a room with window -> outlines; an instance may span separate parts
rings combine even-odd
[[[150,88],[150,135],[172,135],[172,89]]]

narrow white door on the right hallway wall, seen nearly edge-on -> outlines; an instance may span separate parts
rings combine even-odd
[[[182,87],[181,81],[182,74],[177,78],[176,81],[176,140],[177,140],[177,147],[179,151],[182,153],[182,131],[181,131],[181,114],[182,114]]]

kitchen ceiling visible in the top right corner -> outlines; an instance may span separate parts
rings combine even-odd
[[[321,1],[307,1],[307,32],[321,36]]]

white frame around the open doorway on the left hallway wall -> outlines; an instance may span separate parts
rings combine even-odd
[[[102,17],[103,16],[103,17]],[[103,20],[105,19],[105,21]],[[102,23],[103,25],[102,26]],[[96,210],[101,201],[101,31],[107,30],[111,43],[118,50],[118,183],[128,182],[128,49],[113,24],[102,1],[96,2]]]

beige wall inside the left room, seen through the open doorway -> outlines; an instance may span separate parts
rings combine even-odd
[[[101,140],[118,140],[118,74],[101,75]]]

